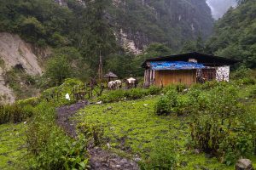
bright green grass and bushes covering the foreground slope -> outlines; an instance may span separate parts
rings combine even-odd
[[[24,143],[13,144],[14,152],[9,152],[0,167],[84,169],[90,163],[87,150],[91,147],[136,160],[142,169],[233,169],[241,156],[255,166],[253,77],[196,84],[189,89],[177,85],[104,91],[92,101],[106,104],[85,106],[66,120],[77,125],[78,137],[72,139],[55,124],[55,108],[75,103],[65,95],[81,85],[68,79],[39,98],[1,107],[2,123],[26,121],[27,152],[26,160],[20,160],[23,155],[15,152],[15,144]],[[61,92],[58,100],[48,98],[53,91]],[[3,125],[0,133],[5,135],[5,128]],[[20,129],[14,131],[21,133]],[[8,149],[9,144],[1,147]],[[15,164],[7,163],[12,160]]]

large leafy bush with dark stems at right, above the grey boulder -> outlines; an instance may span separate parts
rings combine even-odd
[[[236,92],[233,86],[217,86],[207,94],[199,94],[196,98],[203,96],[202,99],[207,102],[199,105],[190,125],[190,145],[212,153],[226,164],[246,156],[253,145],[252,134],[248,133],[241,121],[246,112],[237,101]]]

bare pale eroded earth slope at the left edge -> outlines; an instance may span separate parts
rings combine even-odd
[[[0,32],[0,102],[12,103],[15,101],[15,93],[9,86],[9,72],[20,69],[23,73],[31,76],[42,75],[43,69],[39,65],[38,56],[46,56],[48,50],[34,48],[32,44],[24,42],[19,36]],[[19,77],[17,74],[15,77]],[[16,84],[23,84],[22,78]],[[17,79],[15,79],[17,80]]]

